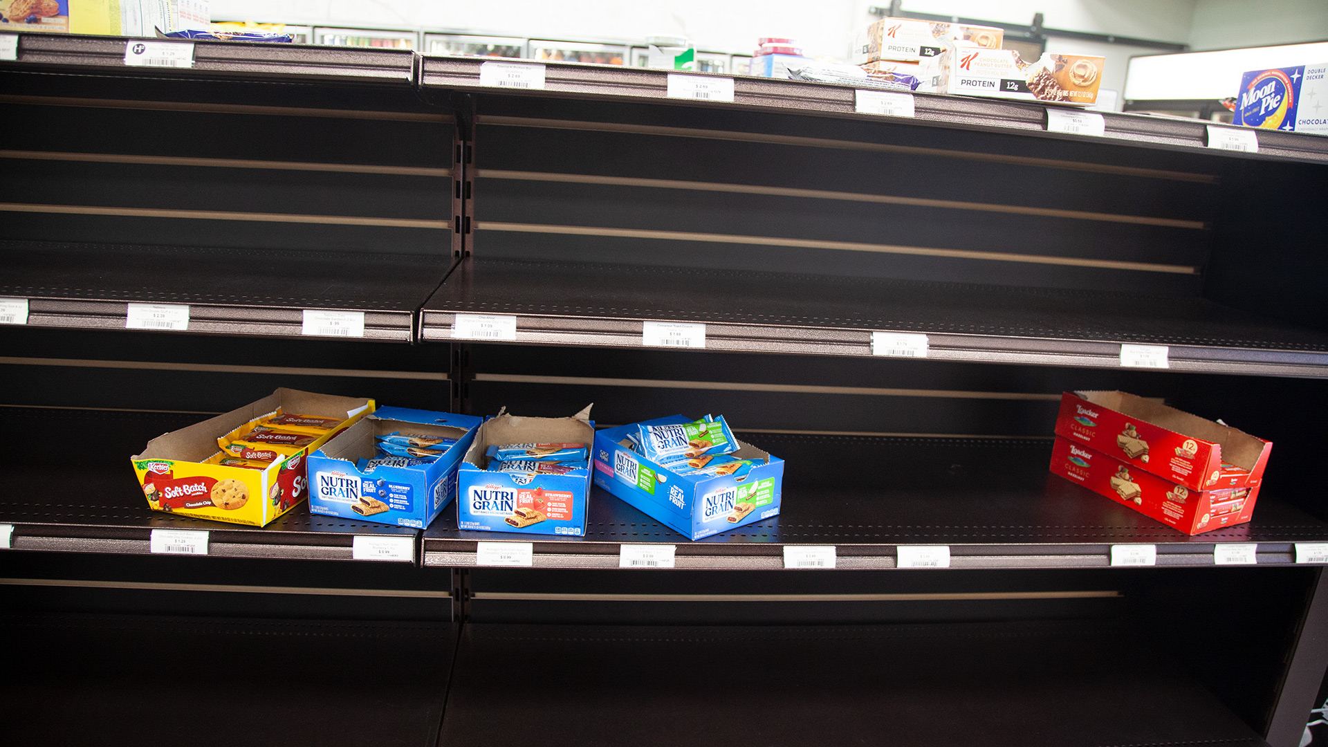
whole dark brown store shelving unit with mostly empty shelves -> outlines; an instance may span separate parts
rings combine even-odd
[[[0,61],[16,132],[44,133],[0,154],[0,296],[27,299],[31,327],[3,330],[23,375],[0,421],[21,444],[80,444],[0,463],[0,587],[73,589],[105,564],[134,594],[163,568],[235,569],[226,594],[244,595],[264,568],[367,587],[390,565],[445,585],[456,622],[324,606],[255,623],[231,602],[189,625],[112,619],[52,591],[0,621],[29,649],[74,661],[85,629],[105,651],[165,642],[199,687],[304,694],[282,728],[307,740],[297,724],[328,711],[329,744],[371,720],[426,744],[1299,739],[1328,665],[1321,564],[1296,562],[1297,544],[1328,542],[1325,444],[1297,411],[1328,372],[1328,140],[1260,132],[1258,154],[1218,152],[1202,122],[1113,113],[1105,137],[1058,134],[1042,105],[923,94],[915,117],[878,117],[850,88],[748,77],[733,102],[677,100],[667,72],[627,66],[550,62],[543,89],[495,89],[485,60],[394,49],[195,43],[193,68],[142,69],[129,43],[21,35]],[[130,302],[189,304],[190,338],[112,332]],[[364,340],[417,344],[332,347],[301,334],[304,311],[363,311]],[[515,339],[458,340],[457,314],[511,315]],[[705,324],[705,351],[643,348],[652,320]],[[874,356],[874,332],[924,334],[927,359]],[[211,360],[193,335],[243,338],[252,359],[211,339]],[[1125,368],[1122,344],[1167,346],[1170,368]],[[441,351],[428,385],[458,409],[724,412],[786,460],[784,512],[688,542],[598,488],[578,538],[142,506],[126,457],[205,416],[161,389],[222,409],[279,375],[386,385]],[[1048,475],[1048,407],[1088,385],[1276,441],[1254,521],[1187,537]],[[153,529],[207,530],[208,557],[147,554]],[[410,562],[352,562],[356,536],[409,537]],[[481,541],[530,540],[534,569],[477,565]],[[676,545],[677,570],[616,570],[640,542]],[[1256,568],[1215,566],[1227,542],[1258,544]],[[784,570],[790,545],[833,545],[837,570]],[[896,569],[907,545],[947,545],[952,570]],[[1154,545],[1159,568],[1109,568],[1114,545]],[[822,626],[772,625],[789,618]],[[1193,651],[1155,645],[1177,631]],[[343,645],[344,667],[305,666]],[[125,693],[154,693],[158,669]],[[61,703],[78,687],[42,679],[0,712],[77,723]],[[250,734],[171,731],[129,700],[98,716],[134,724],[125,739]],[[531,731],[530,703],[584,728]]]

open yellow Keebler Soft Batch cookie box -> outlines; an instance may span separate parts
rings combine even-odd
[[[130,461],[153,510],[264,526],[304,500],[309,452],[373,409],[372,399],[282,388],[255,403],[157,436]],[[297,448],[282,448],[287,453],[259,455],[250,449],[235,456],[220,449],[218,439],[238,437],[268,417],[336,425],[301,439]],[[268,459],[260,459],[264,456]]]

